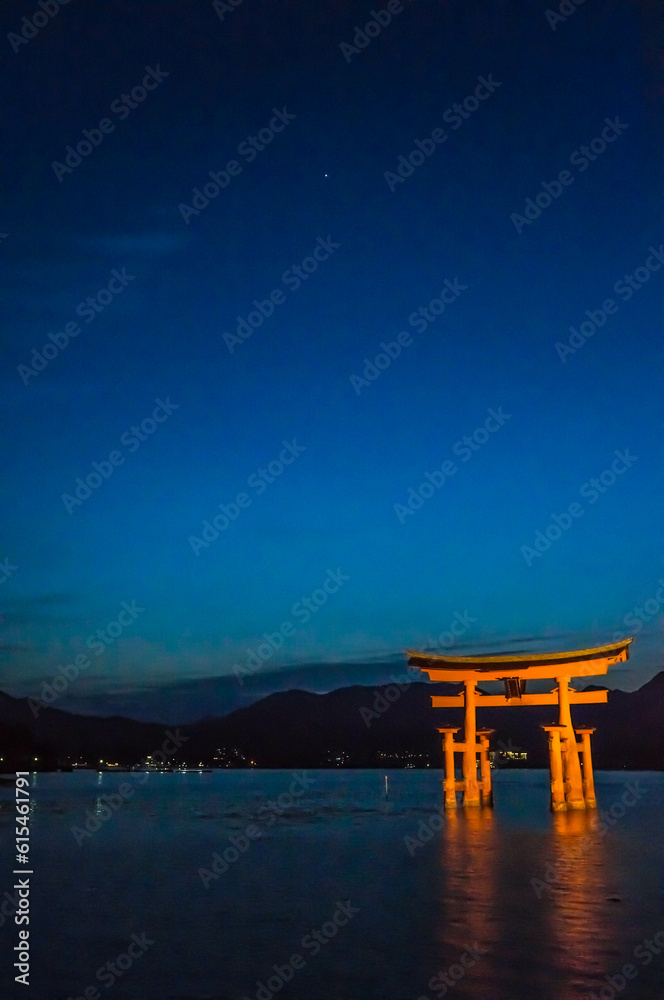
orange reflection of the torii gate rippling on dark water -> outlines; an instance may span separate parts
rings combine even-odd
[[[475,942],[485,951],[459,994],[577,1000],[601,981],[618,950],[605,854],[594,812],[552,814],[538,831],[503,825],[491,809],[446,815],[438,939],[448,962]]]

